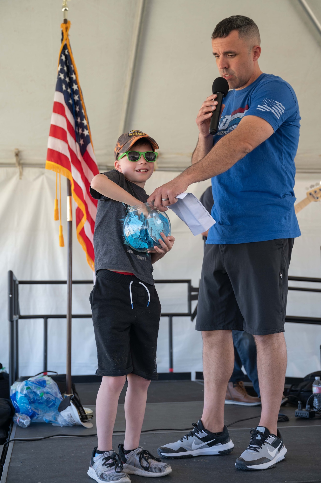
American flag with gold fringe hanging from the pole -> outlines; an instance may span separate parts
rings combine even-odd
[[[94,225],[97,200],[89,193],[99,173],[78,73],[70,48],[70,22],[61,25],[63,40],[59,53],[58,77],[51,116],[46,169],[69,178],[77,203],[77,238],[94,270]]]

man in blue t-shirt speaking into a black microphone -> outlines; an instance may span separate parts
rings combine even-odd
[[[220,75],[232,89],[218,132],[209,134],[212,94],[196,119],[200,134],[192,166],[148,199],[165,210],[188,185],[212,178],[216,223],[204,252],[196,322],[203,338],[204,409],[193,431],[159,448],[159,454],[232,451],[224,400],[233,371],[232,330],[245,330],[257,347],[262,412],[236,467],[267,469],[286,456],[277,420],[286,370],[288,267],[300,236],[293,191],[300,116],[292,87],[259,68],[260,35],[253,20],[241,15],[222,20],[212,46]]]

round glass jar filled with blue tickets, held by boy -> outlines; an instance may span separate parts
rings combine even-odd
[[[171,222],[166,213],[154,208],[154,201],[142,203],[139,206],[129,206],[124,220],[123,233],[125,243],[136,252],[153,250],[161,247],[159,239],[161,232],[166,237],[171,234]]]

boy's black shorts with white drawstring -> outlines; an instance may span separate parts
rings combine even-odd
[[[135,276],[98,270],[89,300],[97,345],[96,375],[133,373],[157,380],[161,304],[155,287]]]

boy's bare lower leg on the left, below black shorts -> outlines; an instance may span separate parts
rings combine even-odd
[[[126,376],[103,376],[96,399],[96,426],[98,450],[110,451],[117,414],[118,399]]]

